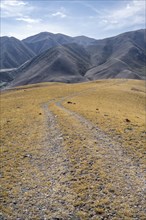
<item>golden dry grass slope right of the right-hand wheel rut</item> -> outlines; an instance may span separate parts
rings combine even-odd
[[[142,158],[146,144],[145,83],[109,80],[95,84],[95,90],[70,98],[64,106],[90,119],[111,137],[116,135],[129,153]],[[69,105],[68,101],[76,105]]]

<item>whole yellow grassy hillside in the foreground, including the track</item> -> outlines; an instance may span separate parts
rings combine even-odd
[[[145,219],[145,82],[1,93],[1,219]]]

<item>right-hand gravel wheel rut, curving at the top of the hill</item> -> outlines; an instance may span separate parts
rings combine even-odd
[[[143,167],[132,160],[124,150],[124,146],[118,143],[118,139],[111,139],[91,121],[65,108],[62,102],[71,97],[73,96],[60,99],[60,101],[56,102],[56,106],[66,112],[68,117],[74,117],[82,125],[83,133],[85,130],[88,131],[91,135],[92,143],[97,143],[98,153],[96,153],[96,156],[102,160],[102,169],[107,175],[108,184],[111,185],[112,196],[110,200],[114,200],[117,197],[121,204],[127,203],[130,209],[134,210],[135,217],[133,219],[139,219],[139,213],[143,213],[145,204],[143,196],[145,190]],[[92,152],[92,144],[90,147],[90,153],[95,153],[94,151]],[[109,219],[112,219],[112,215]]]

